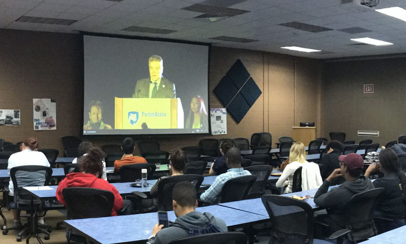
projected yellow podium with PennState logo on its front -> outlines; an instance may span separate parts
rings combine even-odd
[[[115,98],[114,129],[183,129],[179,98]]]

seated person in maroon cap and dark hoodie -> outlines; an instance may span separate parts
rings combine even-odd
[[[335,169],[323,182],[314,196],[314,202],[320,207],[327,209],[328,215],[320,215],[317,218],[329,225],[329,233],[346,227],[344,219],[344,206],[351,197],[370,189],[374,185],[368,177],[361,175],[364,160],[359,154],[341,155],[339,157],[340,168]],[[330,182],[339,176],[344,176],[346,181],[339,187],[328,191]]]

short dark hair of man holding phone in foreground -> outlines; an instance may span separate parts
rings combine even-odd
[[[174,187],[172,199],[182,207],[194,207],[196,203],[196,188],[189,181],[179,182]]]

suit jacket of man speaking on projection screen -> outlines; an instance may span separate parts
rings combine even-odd
[[[132,98],[149,98],[150,81],[151,78],[149,77],[138,80]],[[162,77],[155,98],[176,98],[175,84]]]

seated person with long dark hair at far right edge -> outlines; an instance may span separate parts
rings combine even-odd
[[[368,177],[376,170],[379,170],[384,176],[374,180],[373,184],[377,188],[385,188],[385,191],[379,198],[374,216],[394,220],[385,226],[386,231],[406,225],[404,220],[406,214],[406,176],[399,169],[395,151],[390,148],[382,150],[379,153],[379,161],[369,165],[365,171],[365,176]]]

